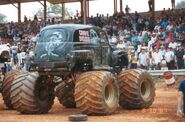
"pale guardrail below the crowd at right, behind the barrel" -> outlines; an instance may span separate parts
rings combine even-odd
[[[148,70],[152,76],[162,76],[164,72],[171,71],[174,76],[185,76],[185,69],[180,70]]]

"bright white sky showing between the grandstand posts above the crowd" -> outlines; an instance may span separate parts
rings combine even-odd
[[[118,1],[118,12],[120,10],[119,7],[119,0]],[[180,2],[182,0],[176,0]],[[95,16],[96,13],[104,14],[107,13],[112,15],[114,12],[114,0],[95,0],[90,1],[89,3],[89,13],[90,15]],[[131,9],[131,12],[138,11],[138,12],[145,12],[148,11],[148,0],[123,0],[123,10],[125,10],[125,6],[128,5]],[[80,3],[67,3],[66,8],[70,9],[74,13],[76,10],[80,11]],[[156,10],[162,10],[163,8],[171,8],[171,0],[155,0]],[[42,8],[42,5],[39,2],[31,2],[31,3],[23,3],[21,4],[21,13],[22,13],[22,20],[24,15],[28,18],[33,17],[34,13]],[[17,21],[17,9],[13,5],[2,5],[0,6],[0,13],[7,16],[8,21]]]

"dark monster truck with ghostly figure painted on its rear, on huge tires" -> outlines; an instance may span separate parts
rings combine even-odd
[[[30,72],[13,79],[10,100],[23,114],[47,113],[55,96],[67,108],[88,115],[123,108],[148,108],[154,101],[151,76],[140,69],[122,70],[127,54],[109,45],[98,27],[51,25],[40,32]]]

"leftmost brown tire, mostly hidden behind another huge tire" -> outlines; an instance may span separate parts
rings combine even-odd
[[[11,99],[10,99],[11,84],[12,84],[13,80],[15,79],[15,77],[22,72],[23,72],[22,70],[12,70],[12,71],[6,73],[5,77],[3,79],[2,96],[3,96],[4,104],[6,105],[6,107],[8,109],[13,109],[13,105],[12,105]]]

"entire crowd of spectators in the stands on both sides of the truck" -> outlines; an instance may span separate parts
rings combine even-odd
[[[155,20],[135,12],[116,13],[113,16],[97,14],[88,24],[101,27],[108,34],[110,43],[127,52],[130,68],[184,69],[185,68],[185,10],[163,10]],[[74,23],[81,23],[75,19]],[[35,46],[35,36],[51,21],[28,20],[0,24],[0,43],[10,46],[11,63],[5,71],[13,68],[29,70]]]

